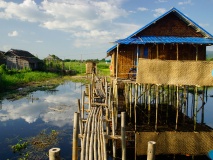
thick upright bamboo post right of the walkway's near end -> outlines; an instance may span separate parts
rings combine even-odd
[[[121,146],[122,160],[126,160],[126,113],[121,112]]]

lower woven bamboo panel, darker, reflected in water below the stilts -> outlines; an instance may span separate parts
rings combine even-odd
[[[137,155],[147,154],[148,141],[157,142],[156,155],[206,155],[213,144],[213,132],[139,132],[135,135]]]

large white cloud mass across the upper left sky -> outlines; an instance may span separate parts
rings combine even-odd
[[[83,45],[90,46],[89,40],[94,39],[95,35],[105,38],[106,43],[126,33],[124,25],[116,28],[116,20],[130,14],[121,7],[124,1],[126,0],[44,0],[39,4],[35,0],[24,0],[21,3],[0,1],[0,18],[18,19],[37,23],[49,30],[68,32],[76,38],[76,42],[84,37]],[[140,10],[145,11],[146,8]],[[76,44],[75,46],[79,46],[81,43]]]

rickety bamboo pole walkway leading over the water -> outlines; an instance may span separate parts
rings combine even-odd
[[[121,135],[116,135],[117,107],[113,88],[106,78],[92,75],[92,83],[78,100],[79,111],[74,116],[72,159],[107,160],[107,144],[112,141],[113,157],[116,157],[116,139],[121,139],[122,157],[126,157],[125,113],[121,115]],[[79,131],[79,132],[78,132]],[[80,138],[80,153],[78,152]],[[122,158],[125,160],[125,158]]]

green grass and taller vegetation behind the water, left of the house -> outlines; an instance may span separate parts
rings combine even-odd
[[[97,74],[99,76],[109,76],[110,63],[105,61],[95,61],[97,64]],[[63,67],[62,67],[63,66]],[[66,61],[52,64],[52,70],[46,71],[31,71],[30,69],[9,70],[5,65],[0,66],[0,92],[15,89],[18,87],[25,87],[32,83],[39,83],[49,81],[50,79],[58,81],[73,80],[74,82],[87,83],[86,76],[86,61]],[[54,68],[55,67],[55,68]],[[63,72],[62,72],[63,71]],[[65,76],[68,75],[68,76]],[[81,76],[81,78],[72,78],[70,76]],[[60,79],[58,79],[60,78]],[[56,80],[57,79],[57,80]],[[57,82],[54,82],[57,83]]]

